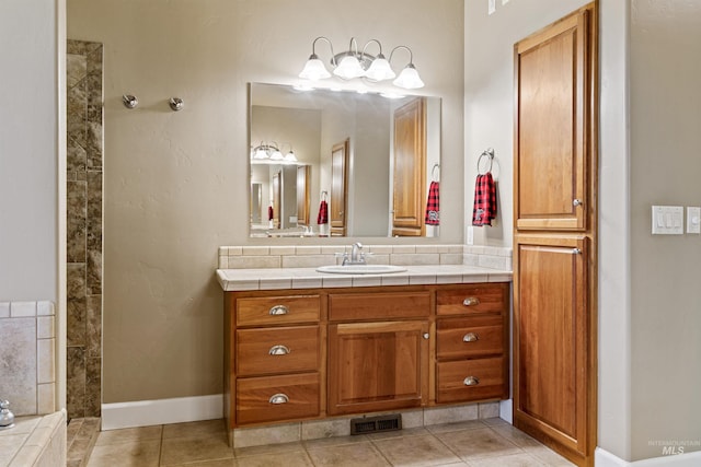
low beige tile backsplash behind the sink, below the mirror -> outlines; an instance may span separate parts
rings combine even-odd
[[[317,268],[341,262],[349,246],[221,246],[219,269]],[[369,264],[397,266],[469,265],[512,270],[512,248],[472,245],[366,245]]]

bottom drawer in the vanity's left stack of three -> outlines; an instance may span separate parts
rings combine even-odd
[[[318,373],[237,380],[237,424],[319,416]]]

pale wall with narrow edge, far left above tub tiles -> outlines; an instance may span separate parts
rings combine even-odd
[[[66,405],[65,2],[0,2],[0,302],[56,306]]]

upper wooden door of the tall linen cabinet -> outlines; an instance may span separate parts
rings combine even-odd
[[[596,142],[590,15],[583,10],[515,46],[517,230],[587,227],[587,166]]]

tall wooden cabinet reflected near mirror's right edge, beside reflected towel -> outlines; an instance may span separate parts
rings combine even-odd
[[[392,236],[423,236],[426,106],[415,98],[394,112]]]

